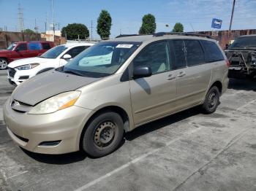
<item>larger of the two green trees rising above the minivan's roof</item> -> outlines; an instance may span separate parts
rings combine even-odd
[[[139,34],[154,34],[157,24],[154,15],[144,15],[142,18],[142,25],[140,27]]]

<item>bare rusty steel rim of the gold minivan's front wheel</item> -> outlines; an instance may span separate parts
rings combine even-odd
[[[110,145],[115,138],[116,128],[116,125],[110,121],[100,123],[94,132],[94,143],[98,147]]]

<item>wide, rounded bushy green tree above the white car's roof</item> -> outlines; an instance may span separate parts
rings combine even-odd
[[[89,30],[88,28],[81,23],[72,23],[68,24],[67,26],[61,29],[61,36],[66,36],[69,40],[78,39],[86,39],[89,37]]]

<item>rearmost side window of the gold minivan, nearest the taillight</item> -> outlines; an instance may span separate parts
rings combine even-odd
[[[219,50],[219,47],[215,42],[202,40],[203,48],[206,52],[206,62],[216,62],[223,61],[224,56],[222,55],[222,51]]]

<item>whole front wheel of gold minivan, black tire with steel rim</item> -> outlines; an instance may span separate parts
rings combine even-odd
[[[82,149],[91,157],[103,157],[116,150],[123,139],[124,122],[116,112],[102,112],[89,122],[82,137]]]

